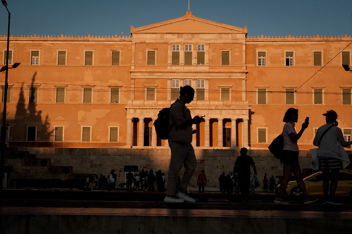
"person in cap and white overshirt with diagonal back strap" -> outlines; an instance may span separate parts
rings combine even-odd
[[[342,205],[342,203],[335,201],[334,196],[339,181],[340,160],[342,160],[343,168],[350,163],[343,147],[351,148],[351,141],[346,141],[341,129],[337,127],[337,113],[335,111],[330,110],[323,115],[326,116],[326,124],[321,126],[315,134],[313,145],[318,146],[318,158],[313,158],[312,166],[318,165],[319,161],[319,169],[323,173],[324,203]],[[323,135],[324,133],[325,135]],[[330,171],[331,173],[329,173]],[[330,195],[329,180],[331,180]]]

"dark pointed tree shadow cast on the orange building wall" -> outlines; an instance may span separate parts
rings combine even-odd
[[[54,130],[50,131],[49,116],[46,115],[43,120],[42,111],[37,111],[39,86],[35,83],[36,75],[37,72],[34,73],[32,83],[28,87],[29,101],[26,101],[26,98],[24,96],[25,88],[23,87],[24,83],[22,83],[14,119],[7,119],[7,122],[11,126],[10,137],[12,136],[14,141],[28,140],[48,142],[50,141],[51,134],[53,134],[54,132]],[[11,115],[11,113],[7,113]]]

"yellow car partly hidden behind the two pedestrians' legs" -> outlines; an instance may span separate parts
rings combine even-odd
[[[309,195],[324,195],[323,193],[323,174],[322,172],[314,173],[303,179],[306,184]],[[330,184],[330,182],[329,182]],[[277,187],[280,187],[278,185]],[[286,188],[287,194],[302,195],[301,189],[297,186],[297,181],[288,182]],[[339,182],[337,184],[336,196],[352,196],[352,173],[339,171]]]

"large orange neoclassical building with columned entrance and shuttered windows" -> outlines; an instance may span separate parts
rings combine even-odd
[[[298,141],[313,148],[322,114],[333,109],[351,140],[350,35],[247,36],[235,27],[180,18],[134,28],[131,36],[11,35],[7,142],[10,147],[167,148],[153,121],[195,89],[191,114],[199,149],[267,149],[289,107]],[[0,35],[6,64],[7,35]],[[345,66],[346,67],[346,66]],[[310,78],[310,79],[309,79]],[[0,74],[2,102],[5,74]],[[3,105],[3,103],[1,104]]]

